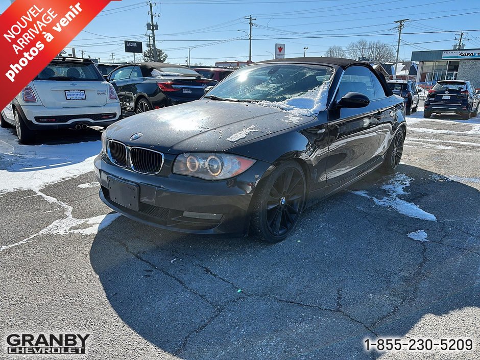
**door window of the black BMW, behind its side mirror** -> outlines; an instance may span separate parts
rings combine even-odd
[[[348,92],[359,92],[366,95],[370,100],[375,99],[374,84],[372,83],[371,71],[368,67],[351,66],[345,70],[335,100],[339,101]],[[385,98],[385,94],[383,97]]]

